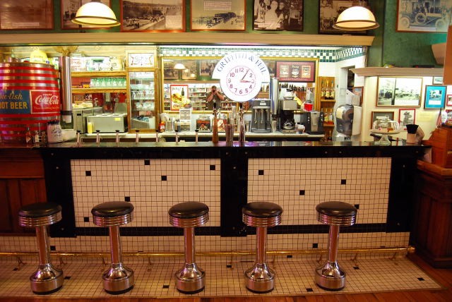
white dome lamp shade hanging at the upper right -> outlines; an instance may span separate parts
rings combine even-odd
[[[374,14],[364,6],[352,6],[340,13],[333,28],[338,30],[373,30],[380,25]]]

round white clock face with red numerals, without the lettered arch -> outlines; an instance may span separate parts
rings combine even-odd
[[[249,100],[261,90],[261,81],[255,71],[245,65],[230,68],[225,77],[220,79],[220,85],[225,95],[233,100]]]

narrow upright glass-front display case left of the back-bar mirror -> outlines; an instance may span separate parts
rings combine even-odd
[[[129,128],[143,131],[155,130],[155,72],[130,69],[129,83]]]

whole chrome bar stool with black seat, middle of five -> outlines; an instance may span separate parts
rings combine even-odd
[[[169,224],[184,228],[185,264],[174,273],[176,288],[183,294],[196,294],[203,291],[206,273],[195,262],[194,227],[201,227],[209,220],[209,208],[198,202],[173,205],[168,210]]]

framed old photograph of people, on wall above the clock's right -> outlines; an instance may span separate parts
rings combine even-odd
[[[303,0],[254,0],[254,30],[303,31]]]

